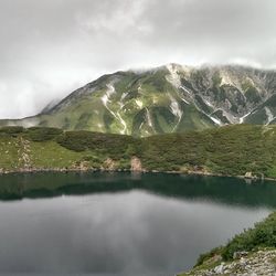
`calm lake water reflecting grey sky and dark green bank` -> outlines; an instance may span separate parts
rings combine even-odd
[[[276,208],[276,183],[129,173],[0,177],[0,273],[173,275]]]

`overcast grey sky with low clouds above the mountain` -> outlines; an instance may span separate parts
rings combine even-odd
[[[275,12],[275,0],[0,0],[0,118],[118,70],[276,67]]]

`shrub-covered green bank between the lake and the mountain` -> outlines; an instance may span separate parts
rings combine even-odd
[[[63,131],[0,129],[0,169],[142,169],[276,178],[276,127],[236,125],[148,138]]]

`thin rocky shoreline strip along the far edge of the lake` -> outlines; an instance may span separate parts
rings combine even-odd
[[[131,169],[83,169],[83,168],[51,168],[51,169],[19,169],[19,170],[2,170],[0,169],[0,177],[1,176],[8,176],[8,174],[15,174],[15,173],[36,173],[36,172],[78,172],[78,173],[85,173],[85,172],[132,172],[132,173],[167,173],[167,174],[182,174],[182,176],[198,176],[198,177],[222,177],[222,178],[236,178],[236,179],[243,179],[244,181],[248,182],[259,182],[259,181],[274,181],[276,182],[276,178],[267,178],[264,177],[261,178],[246,178],[244,176],[231,176],[231,174],[222,174],[222,173],[212,173],[212,172],[200,172],[200,171],[158,171],[158,170],[131,170]]]

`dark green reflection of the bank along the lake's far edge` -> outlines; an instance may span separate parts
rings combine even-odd
[[[0,199],[49,198],[62,194],[113,193],[146,190],[163,197],[209,200],[225,204],[276,208],[273,182],[246,184],[244,180],[179,174],[35,173],[1,176]]]

